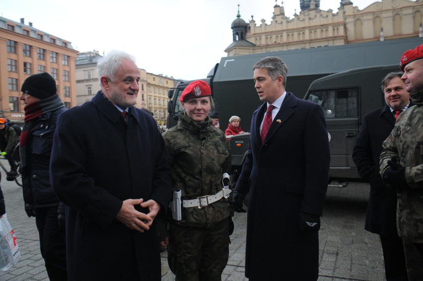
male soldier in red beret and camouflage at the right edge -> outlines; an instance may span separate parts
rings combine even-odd
[[[410,281],[423,280],[423,45],[406,51],[401,79],[415,106],[398,116],[383,143],[380,174],[398,192],[397,228]]]

